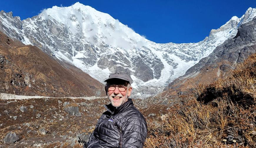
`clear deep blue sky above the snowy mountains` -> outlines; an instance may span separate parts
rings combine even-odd
[[[79,0],[1,0],[0,9],[26,19],[52,6],[71,6]],[[108,13],[136,33],[157,43],[199,42],[232,16],[241,17],[256,0],[80,0]]]

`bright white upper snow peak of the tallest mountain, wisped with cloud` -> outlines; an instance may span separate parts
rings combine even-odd
[[[90,44],[108,44],[112,47],[130,50],[146,44],[144,37],[120,23],[107,13],[85,6],[79,2],[69,7],[53,6],[43,10],[37,21],[54,20],[65,25],[72,34],[79,34]],[[135,46],[134,46],[135,45]]]

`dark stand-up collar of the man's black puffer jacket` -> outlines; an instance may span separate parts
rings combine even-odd
[[[125,111],[127,108],[129,108],[129,106],[133,106],[133,102],[131,98],[128,98],[127,102],[125,102],[124,104],[122,104],[119,107],[114,107],[112,106],[112,104],[108,104],[108,105],[104,105],[104,108],[107,109],[107,111],[109,111],[109,113],[114,114],[114,113],[120,113]]]

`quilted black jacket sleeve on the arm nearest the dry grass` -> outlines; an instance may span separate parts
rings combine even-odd
[[[121,131],[119,147],[121,148],[142,148],[147,137],[147,123],[145,119],[130,118]]]

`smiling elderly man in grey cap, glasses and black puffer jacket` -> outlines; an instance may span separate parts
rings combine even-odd
[[[110,74],[105,91],[111,102],[84,145],[87,148],[142,148],[147,137],[147,123],[133,106],[132,79],[127,74]]]

